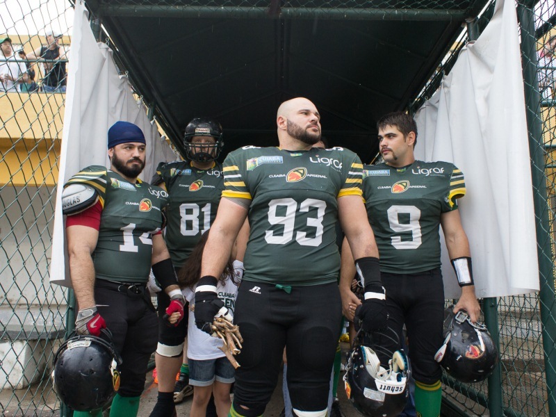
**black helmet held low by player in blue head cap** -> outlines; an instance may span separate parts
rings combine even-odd
[[[112,343],[110,332],[104,337],[74,336],[65,341],[54,356],[54,391],[67,407],[92,411],[112,401],[120,388],[118,366],[122,359]]]

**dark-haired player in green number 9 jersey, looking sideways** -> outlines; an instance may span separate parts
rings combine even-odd
[[[411,116],[390,113],[377,128],[384,163],[363,170],[363,198],[379,247],[388,323],[400,341],[403,325],[407,328],[418,415],[436,417],[442,370],[435,354],[443,343],[444,317],[440,225],[461,286],[454,311],[467,311],[473,322],[480,315],[469,243],[457,210],[457,199],[466,193],[464,174],[451,163],[416,161],[417,126]],[[349,245],[344,245],[341,294],[346,314],[350,304],[359,304],[350,289],[355,274],[352,259]],[[399,346],[388,348],[393,352]]]

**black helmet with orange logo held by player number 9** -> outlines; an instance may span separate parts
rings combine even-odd
[[[444,310],[444,344],[434,359],[460,382],[481,382],[498,363],[498,350],[482,323],[473,323],[465,311],[453,309]]]

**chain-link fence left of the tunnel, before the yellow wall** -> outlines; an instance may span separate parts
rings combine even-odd
[[[49,284],[49,262],[71,24],[67,1],[0,3],[2,416],[60,409],[49,373],[67,294]]]

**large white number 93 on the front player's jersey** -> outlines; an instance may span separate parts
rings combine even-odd
[[[277,215],[277,208],[286,207],[286,215]],[[308,238],[306,231],[297,231],[295,240],[302,246],[318,246],[322,243],[322,219],[325,217],[326,203],[322,200],[308,198],[304,199],[301,204],[300,212],[309,212],[309,208],[317,209],[316,218],[307,218],[307,227],[315,228],[315,237]],[[285,245],[293,239],[295,227],[295,213],[297,211],[297,202],[293,198],[273,199],[268,203],[268,222],[270,224],[281,224],[284,226],[284,232],[280,235],[275,234],[273,230],[267,230],[265,240],[272,245]]]

